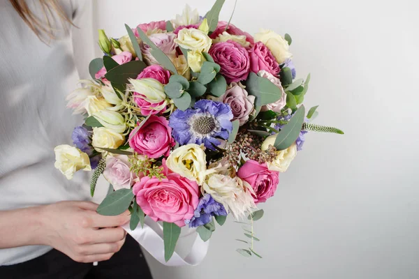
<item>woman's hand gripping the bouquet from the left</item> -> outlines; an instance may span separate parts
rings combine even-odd
[[[121,249],[128,223],[126,211],[119,216],[101,216],[92,202],[57,202],[42,206],[40,242],[64,252],[76,262],[100,262]]]

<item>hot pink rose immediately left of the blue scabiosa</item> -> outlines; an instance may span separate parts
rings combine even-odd
[[[140,130],[130,137],[129,146],[138,154],[149,158],[167,157],[170,148],[175,146],[169,121],[162,116],[150,116]]]

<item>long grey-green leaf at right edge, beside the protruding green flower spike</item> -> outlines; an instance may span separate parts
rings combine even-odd
[[[304,105],[298,108],[290,121],[281,129],[275,139],[274,146],[277,150],[287,149],[297,140],[304,123],[305,109]]]

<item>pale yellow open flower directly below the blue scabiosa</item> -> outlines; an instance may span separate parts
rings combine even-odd
[[[207,160],[203,147],[198,144],[186,144],[175,149],[166,160],[166,165],[172,172],[197,181],[199,185],[205,180]]]

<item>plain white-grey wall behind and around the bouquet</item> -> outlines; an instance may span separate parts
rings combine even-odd
[[[185,3],[102,0],[94,28],[117,38],[124,23],[172,19]],[[201,15],[212,3],[189,1]],[[226,1],[221,20],[233,6]],[[228,220],[199,266],[147,257],[155,279],[419,278],[417,12],[413,0],[237,1],[237,27],[291,34],[297,77],[311,73],[304,103],[320,105],[314,122],[346,134],[309,133],[276,195],[260,205],[263,259],[235,252],[242,229]]]

